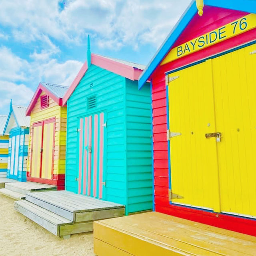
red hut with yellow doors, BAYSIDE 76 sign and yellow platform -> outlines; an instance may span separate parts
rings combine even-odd
[[[154,212],[94,222],[95,254],[255,254],[255,63],[256,1],[190,3],[139,79]]]

